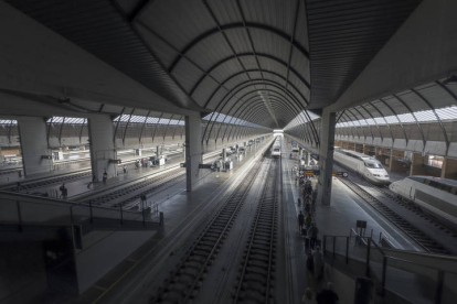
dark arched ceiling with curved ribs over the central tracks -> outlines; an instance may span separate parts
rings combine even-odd
[[[211,121],[281,129],[334,102],[421,1],[7,2]]]

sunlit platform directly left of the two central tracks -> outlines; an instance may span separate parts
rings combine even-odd
[[[235,155],[228,156],[233,161],[233,170],[231,171],[217,172],[204,169],[199,185],[191,193],[185,191],[185,178],[153,193],[149,199],[158,205],[158,211],[163,213],[163,228],[158,231],[147,231],[146,235],[145,232],[130,234],[131,243],[138,243],[137,239],[144,239],[142,245],[139,245],[138,248],[132,248],[129,254],[124,254],[125,257],[119,259],[119,262],[110,271],[106,271],[102,275],[99,274],[103,270],[100,267],[97,267],[94,272],[94,276],[97,276],[97,280],[91,282],[87,290],[81,296],[76,298],[50,291],[34,298],[34,301],[41,301],[42,303],[113,303],[114,300],[119,301],[124,298],[128,292],[130,302],[125,298],[125,303],[147,303],[148,297],[151,296],[155,290],[145,290],[138,282],[141,279],[144,280],[141,282],[163,281],[153,276],[156,274],[151,274],[149,271],[155,270],[158,265],[163,267],[164,263],[169,264],[169,268],[176,263],[174,257],[180,257],[188,248],[187,246],[174,247],[176,243],[193,240],[195,231],[202,228],[200,227],[202,225],[200,219],[211,216],[217,209],[217,204],[233,189],[233,184],[244,178],[254,160],[261,156],[261,151],[265,151],[266,142],[264,141],[251,149],[246,148],[243,155],[236,158]],[[170,165],[172,164],[167,166]],[[150,174],[152,170],[160,169],[139,170],[138,173],[131,174],[136,174],[138,177]],[[130,172],[128,175],[130,175]],[[106,186],[116,187],[116,183],[120,183],[121,178],[134,177],[120,176],[119,181]],[[86,185],[83,182],[79,183],[79,187],[82,191],[87,189],[84,189]],[[76,189],[76,187],[74,188]],[[68,199],[71,198],[68,197]],[[152,218],[156,216],[158,216],[156,213],[151,215]],[[104,247],[103,242],[105,239],[109,239],[108,232],[93,234],[87,242],[88,247],[86,250],[77,254],[91,251],[95,252],[94,254],[97,254],[98,259],[104,259],[104,253],[116,257],[121,254],[119,252],[126,252],[124,249],[116,249],[116,246],[127,246],[119,243],[109,249],[110,253],[106,252],[106,250],[100,250]],[[172,252],[170,256],[168,253],[163,256],[163,252],[170,251]],[[167,269],[167,267],[163,267],[163,269]],[[164,272],[168,274],[168,271]],[[155,280],[149,280],[151,275]],[[135,301],[131,301],[132,298]]]

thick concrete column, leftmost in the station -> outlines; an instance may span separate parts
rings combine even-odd
[[[47,148],[46,122],[42,117],[20,117],[19,137],[22,150],[24,175],[51,171],[53,161]],[[49,155],[51,159],[43,159]]]

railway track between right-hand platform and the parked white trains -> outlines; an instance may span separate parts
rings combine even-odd
[[[440,253],[440,254],[450,253],[442,245],[437,243],[433,238],[425,235],[419,228],[415,227],[410,221],[407,221],[405,218],[403,218],[401,215],[398,215],[396,211],[387,207],[384,203],[378,199],[372,193],[363,188],[363,186],[351,181],[350,178],[338,178],[338,180],[342,182],[346,186],[348,186],[351,191],[353,191],[364,202],[366,202],[373,209],[375,209],[382,216],[387,218],[393,225],[395,225],[401,231],[407,235],[426,252]],[[371,185],[370,187],[378,188],[376,186],[373,186],[373,185]],[[386,193],[384,193],[380,188],[378,188],[378,192],[383,193],[383,195],[386,195]],[[387,197],[393,199],[393,197],[390,194]]]

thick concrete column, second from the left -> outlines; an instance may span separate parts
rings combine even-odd
[[[91,143],[92,174],[103,180],[103,173],[108,173],[108,178],[117,175],[117,165],[109,160],[116,160],[117,153],[114,146],[113,120],[109,116],[100,115],[88,120],[88,133]]]

